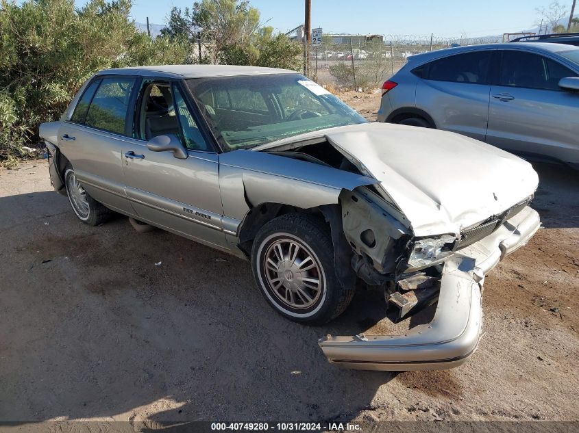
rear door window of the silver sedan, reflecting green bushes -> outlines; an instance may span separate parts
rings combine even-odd
[[[84,123],[90,127],[125,134],[133,78],[105,78],[90,103]]]

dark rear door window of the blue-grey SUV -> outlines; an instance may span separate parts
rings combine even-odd
[[[428,79],[452,83],[488,83],[492,51],[476,51],[444,57],[430,62]]]

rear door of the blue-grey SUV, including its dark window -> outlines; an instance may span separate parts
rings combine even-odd
[[[436,128],[484,140],[489,115],[489,69],[495,49],[449,55],[426,64],[416,106]]]

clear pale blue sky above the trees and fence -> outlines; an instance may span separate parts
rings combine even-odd
[[[536,8],[552,0],[312,0],[312,27],[324,33],[476,38],[538,27]],[[77,5],[86,0],[75,1]],[[262,22],[286,32],[304,23],[304,0],[250,0]],[[569,3],[572,0],[560,0]],[[193,0],[134,0],[133,18],[164,24],[171,8]]]

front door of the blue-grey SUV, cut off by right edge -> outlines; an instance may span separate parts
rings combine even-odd
[[[486,141],[522,155],[579,162],[579,94],[558,86],[577,74],[537,53],[501,50],[501,56]]]

